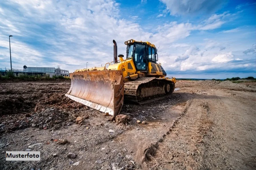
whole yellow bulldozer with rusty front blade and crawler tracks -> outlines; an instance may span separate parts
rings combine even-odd
[[[125,41],[126,59],[113,40],[113,61],[105,66],[78,69],[70,73],[71,87],[65,96],[109,115],[120,113],[124,102],[159,98],[175,89],[175,77],[157,63],[157,48],[150,42]]]

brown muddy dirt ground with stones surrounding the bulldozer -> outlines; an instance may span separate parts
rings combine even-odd
[[[0,169],[256,169],[255,82],[179,80],[160,100],[125,104],[118,125],[66,98],[69,87],[0,82]],[[5,161],[29,150],[41,161]]]

